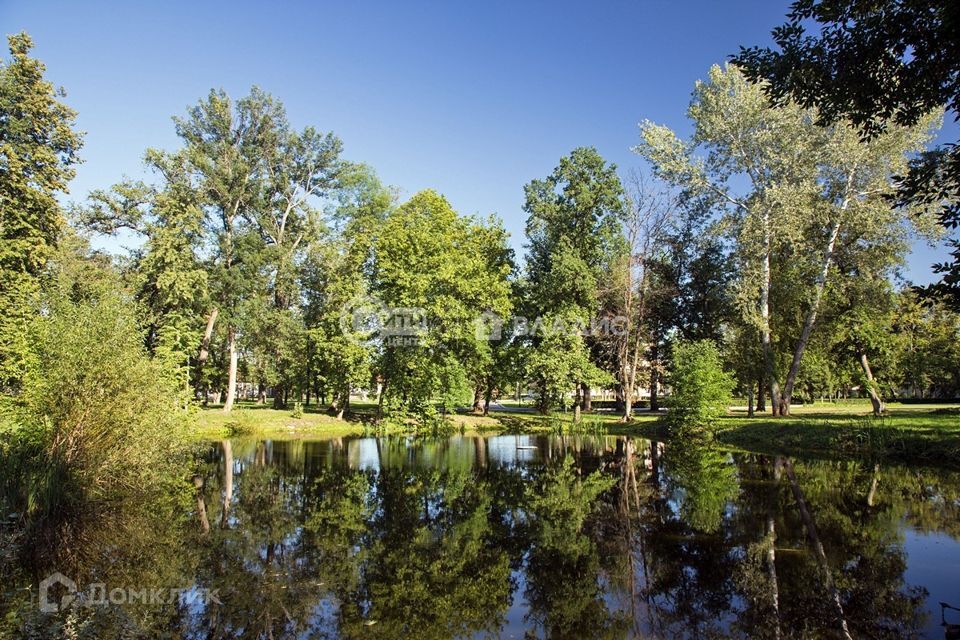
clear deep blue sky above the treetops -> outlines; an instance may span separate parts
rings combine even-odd
[[[34,37],[79,112],[73,198],[140,177],[144,149],[174,148],[171,116],[212,87],[256,84],[403,196],[429,187],[498,214],[519,252],[526,182],[581,145],[642,166],[637,124],[689,133],[694,81],[740,44],[769,44],[788,4],[0,0],[0,25]],[[943,254],[917,244],[906,275],[928,281]]]

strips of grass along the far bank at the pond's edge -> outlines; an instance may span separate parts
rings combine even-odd
[[[506,406],[506,405],[505,405]],[[881,418],[870,415],[867,401],[799,405],[786,418],[759,414],[748,418],[734,408],[720,420],[717,440],[732,449],[829,459],[875,458],[960,467],[960,405],[888,405]],[[346,420],[304,407],[301,419],[290,410],[240,403],[224,414],[211,407],[198,414],[196,435],[216,439],[232,434],[261,437],[335,437],[360,434],[376,413],[373,403],[354,403]],[[639,412],[624,424],[614,413],[585,413],[579,425],[571,412],[540,416],[531,411],[491,411],[489,416],[448,416],[453,428],[479,433],[599,432],[666,439],[662,414]]]

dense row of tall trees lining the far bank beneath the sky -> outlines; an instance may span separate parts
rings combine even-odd
[[[531,180],[521,259],[496,217],[429,190],[401,202],[257,88],[211,91],[174,118],[178,148],[145,152],[147,180],[67,215],[82,138],[30,47],[11,37],[0,70],[0,373],[14,405],[35,379],[31,327],[64,298],[128,305],[176,389],[163,393],[225,411],[239,392],[342,417],[361,395],[380,417],[432,420],[529,392],[543,412],[579,414],[612,389],[629,420],[640,397],[657,408],[677,345],[703,340],[751,412],[854,391],[877,413],[885,398],[960,395],[960,317],[898,279],[911,239],[939,233],[938,203],[894,203],[936,110],[865,140],[714,67],[690,139],[641,125],[647,173],[621,176],[582,147]],[[89,249],[121,229],[141,239],[130,255]]]

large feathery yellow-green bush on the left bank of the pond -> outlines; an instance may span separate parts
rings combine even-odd
[[[32,323],[22,393],[0,416],[4,493],[27,515],[169,493],[188,459],[186,412],[119,294],[56,301]]]

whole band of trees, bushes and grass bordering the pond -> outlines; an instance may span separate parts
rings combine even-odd
[[[902,179],[948,100],[874,113],[864,136],[745,54],[704,69],[689,138],[644,121],[643,169],[583,146],[531,177],[516,255],[497,216],[401,199],[257,87],[174,117],[176,144],[144,150],[149,178],[65,204],[83,136],[31,48],[11,36],[0,66],[0,446],[18,514],[163,487],[141,474],[176,477],[191,426],[658,428],[666,399],[666,422],[716,422],[738,446],[956,455],[952,413],[890,404],[960,396],[956,296],[900,276],[956,207]],[[92,248],[119,233],[137,239],[124,255]],[[746,411],[722,417],[731,386]],[[807,410],[848,397],[878,419]]]

